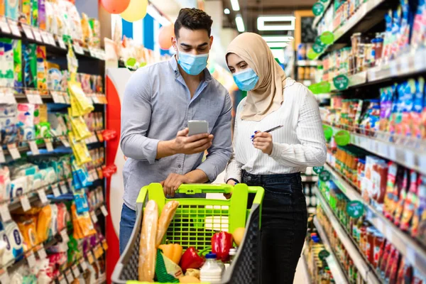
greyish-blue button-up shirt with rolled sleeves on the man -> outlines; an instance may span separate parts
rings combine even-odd
[[[141,187],[165,180],[170,173],[184,175],[200,169],[214,181],[228,163],[231,146],[231,98],[207,68],[191,99],[173,56],[138,69],[126,84],[121,108],[121,150],[124,165],[124,204],[136,209]],[[209,122],[212,146],[203,153],[178,154],[156,160],[159,141],[176,137],[190,120]]]

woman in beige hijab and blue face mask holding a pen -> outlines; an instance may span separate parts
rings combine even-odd
[[[293,283],[307,231],[300,172],[326,158],[320,110],[305,86],[285,77],[260,35],[237,36],[226,62],[247,97],[236,109],[234,155],[225,179],[265,189],[261,282]],[[283,127],[263,132],[275,126]]]

